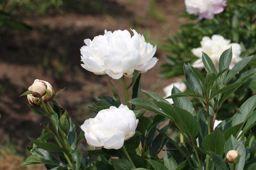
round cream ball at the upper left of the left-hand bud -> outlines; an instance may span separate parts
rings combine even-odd
[[[46,94],[47,84],[44,81],[36,81],[29,87],[31,94],[35,98],[41,98]]]

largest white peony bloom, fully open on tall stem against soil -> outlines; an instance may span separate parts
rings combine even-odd
[[[96,75],[108,74],[113,79],[123,75],[132,77],[134,70],[146,72],[157,63],[156,46],[146,43],[143,35],[132,30],[106,31],[104,35],[85,39],[82,46],[81,66]]]

